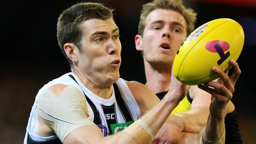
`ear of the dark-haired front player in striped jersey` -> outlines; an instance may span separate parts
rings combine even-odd
[[[71,59],[73,62],[77,62],[79,54],[78,48],[72,43],[66,43],[63,47],[67,57],[69,57],[69,59]]]

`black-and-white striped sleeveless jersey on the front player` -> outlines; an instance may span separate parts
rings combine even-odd
[[[113,91],[110,98],[103,99],[96,96],[82,85],[76,75],[70,72],[50,81],[37,93],[28,120],[24,144],[36,144],[37,142],[43,142],[44,144],[61,143],[56,135],[50,137],[39,136],[39,124],[36,111],[37,100],[42,92],[57,83],[72,85],[85,95],[87,108],[90,114],[88,118],[99,127],[104,136],[125,129],[141,117],[139,106],[123,79],[119,78],[118,81],[113,84]]]

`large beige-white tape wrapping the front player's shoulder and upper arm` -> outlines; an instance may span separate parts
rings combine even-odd
[[[54,122],[54,132],[61,142],[75,129],[94,124],[88,119],[85,96],[74,86],[67,86],[58,97],[46,89],[37,102],[37,113]]]

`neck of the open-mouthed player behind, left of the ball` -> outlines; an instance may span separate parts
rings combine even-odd
[[[164,92],[170,85],[171,68],[156,68],[144,60],[147,86],[154,93]]]

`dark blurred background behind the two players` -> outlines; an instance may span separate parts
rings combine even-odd
[[[70,71],[56,38],[59,14],[78,0],[1,2],[0,20],[0,144],[20,144],[37,91],[48,81]],[[121,78],[145,83],[143,59],[135,50],[139,11],[149,0],[91,0],[115,9],[122,43]],[[184,0],[198,13],[196,28],[216,18],[232,18],[245,31],[238,59],[242,74],[232,101],[244,144],[256,141],[255,48],[256,0]]]

